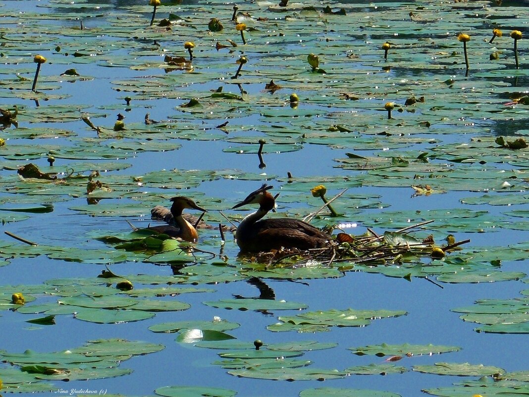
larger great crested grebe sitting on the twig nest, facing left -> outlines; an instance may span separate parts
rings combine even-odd
[[[271,249],[310,249],[325,247],[332,237],[307,222],[289,218],[263,219],[276,202],[268,193],[272,186],[263,184],[232,209],[246,204],[259,204],[259,209],[239,223],[235,232],[241,252],[269,251]]]

